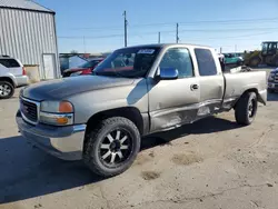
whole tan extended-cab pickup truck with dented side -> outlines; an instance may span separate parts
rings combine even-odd
[[[222,73],[211,48],[147,44],[116,50],[95,76],[23,89],[17,123],[46,151],[111,177],[131,166],[142,136],[231,109],[247,126],[266,98],[264,71]]]

